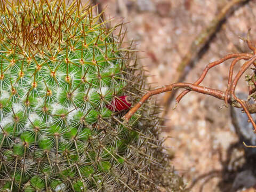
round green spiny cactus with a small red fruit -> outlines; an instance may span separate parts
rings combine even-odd
[[[145,76],[131,47],[122,48],[123,25],[107,27],[93,8],[1,1],[0,191],[183,185],[158,138],[159,109],[121,121]]]

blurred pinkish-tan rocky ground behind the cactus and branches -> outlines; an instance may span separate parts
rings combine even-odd
[[[128,22],[127,39],[134,39],[142,64],[148,70],[152,87],[174,83],[177,67],[196,36],[220,12],[229,0],[94,0],[105,11],[105,19],[114,23]],[[195,82],[212,61],[228,53],[250,52],[238,38],[256,43],[256,1],[235,6],[217,33],[210,39],[201,57],[186,68],[185,82]],[[230,60],[210,70],[202,85],[225,90]],[[240,62],[236,67],[237,72]],[[248,74],[252,70],[248,70]],[[241,78],[242,80],[243,78]],[[247,95],[244,81],[236,93]],[[164,94],[158,95],[159,105]],[[173,165],[183,175],[191,191],[242,191],[256,184],[255,152],[242,142],[255,145],[255,136],[241,110],[222,107],[223,102],[210,96],[190,92],[172,110],[171,103],[163,137],[171,137],[165,145],[174,153]],[[164,107],[164,106],[163,106]],[[231,115],[232,114],[232,115]],[[236,122],[234,122],[234,119]],[[247,127],[245,135],[238,129]],[[248,131],[249,130],[249,131]],[[249,189],[248,189],[249,190]],[[252,188],[253,190],[253,188]]]

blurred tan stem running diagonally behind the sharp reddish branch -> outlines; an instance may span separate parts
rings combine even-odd
[[[243,3],[249,2],[250,0],[233,0],[228,2],[219,12],[219,14],[210,22],[210,24],[201,31],[201,33],[191,43],[189,51],[186,56],[180,62],[177,71],[178,76],[174,79],[174,82],[181,82],[185,77],[185,68],[193,63],[198,55],[202,52],[203,48],[209,43],[211,37],[218,31],[220,25],[227,18],[227,14],[234,10],[234,7]],[[186,91],[187,92],[187,91]],[[183,93],[185,94],[185,92]],[[162,117],[165,117],[169,111],[170,103],[174,98],[175,92],[168,92],[164,95],[163,106],[164,111]]]

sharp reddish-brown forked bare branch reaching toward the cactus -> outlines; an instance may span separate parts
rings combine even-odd
[[[198,93],[212,95],[215,98],[218,98],[218,99],[221,99],[221,100],[225,101],[226,105],[229,104],[229,105],[237,107],[237,108],[243,108],[243,110],[245,111],[246,115],[248,116],[250,122],[253,125],[254,132],[256,132],[256,124],[255,124],[255,122],[253,121],[253,119],[251,117],[252,113],[256,113],[256,103],[251,104],[248,101],[237,98],[236,95],[235,95],[235,89],[236,89],[236,86],[237,86],[237,83],[238,83],[239,79],[242,77],[242,75],[245,73],[245,71],[251,65],[254,65],[254,66],[256,65],[255,64],[256,48],[252,45],[252,43],[249,40],[249,33],[250,33],[250,30],[248,32],[248,36],[247,36],[247,39],[245,40],[245,42],[247,43],[248,47],[252,50],[253,54],[250,54],[250,53],[228,54],[228,55],[226,55],[225,57],[221,58],[218,61],[214,61],[212,63],[209,63],[206,66],[206,68],[204,69],[201,76],[197,79],[197,81],[195,83],[173,83],[171,85],[166,85],[166,86],[164,86],[162,88],[159,88],[159,89],[148,91],[145,95],[143,95],[143,97],[140,99],[140,101],[138,103],[136,103],[128,111],[128,113],[126,113],[122,117],[124,119],[124,121],[128,121],[132,117],[132,115],[134,115],[134,113],[136,113],[136,111],[143,105],[143,103],[145,103],[147,101],[147,99],[149,97],[151,97],[152,95],[172,91],[172,90],[178,89],[178,88],[183,88],[183,89],[186,89],[186,90],[178,95],[178,97],[176,98],[176,103],[179,103],[180,100],[189,91],[195,91],[195,92],[198,92]],[[230,68],[229,68],[229,78],[228,78],[227,89],[226,89],[225,92],[223,92],[221,90],[218,90],[218,89],[211,89],[210,87],[205,87],[205,86],[200,86],[199,85],[204,80],[206,74],[208,73],[208,71],[212,67],[217,66],[220,63],[222,63],[222,62],[224,62],[228,59],[234,59],[234,60],[231,62],[231,65],[230,65]],[[246,61],[244,62],[244,64],[239,69],[238,73],[236,74],[236,76],[233,79],[234,66],[240,60],[246,60]],[[255,83],[255,79],[254,79],[255,78],[255,71],[256,71],[256,69],[254,69],[254,73],[250,77],[250,79],[254,83],[254,85],[253,85],[253,87],[251,87],[251,85],[249,85],[249,95],[252,95],[254,93],[256,94],[256,83]],[[256,100],[256,98],[254,98],[254,99]]]

